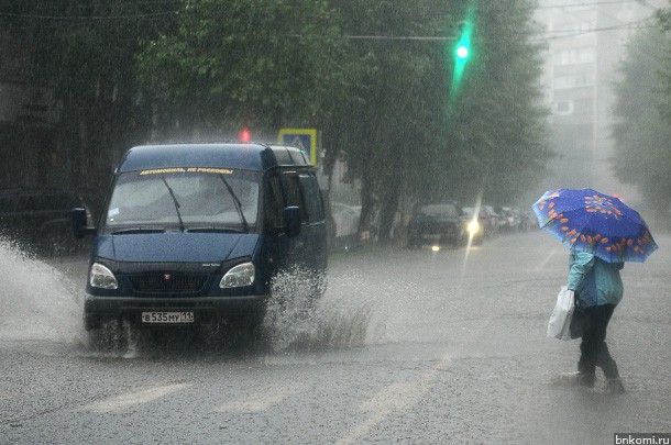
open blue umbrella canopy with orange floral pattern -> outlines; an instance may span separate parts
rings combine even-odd
[[[657,249],[650,230],[619,198],[592,189],[546,192],[531,207],[540,229],[571,249],[608,262],[645,262]]]

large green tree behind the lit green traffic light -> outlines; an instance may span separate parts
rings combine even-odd
[[[551,153],[532,2],[340,4],[353,35],[444,38],[352,44],[366,66],[365,94],[354,111],[359,125],[348,129],[355,143],[346,152],[351,174],[362,181],[363,230],[388,238],[403,197],[474,202],[480,191],[509,202],[540,179]],[[452,47],[466,18],[473,47],[457,84]]]

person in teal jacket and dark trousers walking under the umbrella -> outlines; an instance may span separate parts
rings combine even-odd
[[[571,251],[569,259],[569,290],[575,292],[578,310],[586,315],[586,325],[580,344],[576,380],[594,387],[596,367],[606,377],[606,392],[622,393],[625,387],[617,364],[606,345],[606,329],[613,311],[624,294],[619,271],[624,263],[607,263],[588,252]]]

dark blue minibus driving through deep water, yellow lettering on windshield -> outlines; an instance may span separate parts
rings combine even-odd
[[[136,146],[117,170],[92,234],[84,325],[262,323],[273,279],[304,270],[324,289],[327,230],[308,156],[290,146]],[[90,220],[89,220],[90,221]],[[89,222],[90,224],[90,222]],[[286,297],[286,296],[285,296]]]

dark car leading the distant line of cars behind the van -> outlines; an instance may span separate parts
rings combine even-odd
[[[455,202],[417,204],[408,224],[408,247],[459,246],[468,241],[468,216]]]

